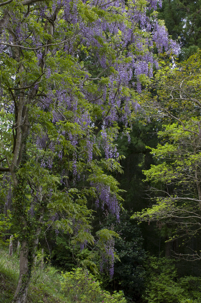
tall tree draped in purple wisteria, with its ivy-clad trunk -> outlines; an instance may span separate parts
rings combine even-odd
[[[0,171],[10,178],[21,242],[13,302],[26,302],[44,225],[68,232],[72,245],[93,244],[88,196],[118,220],[121,196],[109,174],[122,171],[118,122],[129,140],[137,92],[157,65],[154,47],[177,52],[156,7],[157,0],[0,3]]]

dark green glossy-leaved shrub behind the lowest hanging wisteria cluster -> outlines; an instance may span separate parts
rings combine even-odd
[[[141,231],[134,220],[130,219],[131,213],[124,211],[120,214],[120,221],[107,215],[104,226],[112,229],[121,236],[114,240],[114,249],[120,260],[114,263],[114,276],[110,281],[107,271],[102,274],[104,288],[108,290],[123,290],[127,298],[138,298],[144,288],[145,269],[143,262],[146,253],[143,249]]]

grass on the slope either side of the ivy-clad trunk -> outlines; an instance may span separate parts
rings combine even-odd
[[[39,261],[32,273],[27,303],[67,303],[61,293],[61,275],[51,265],[42,269]],[[0,302],[11,303],[19,279],[19,257],[9,258],[8,249],[0,248]]]

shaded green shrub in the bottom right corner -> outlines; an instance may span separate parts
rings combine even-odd
[[[147,303],[201,303],[201,278],[177,279],[174,260],[148,259],[146,289],[142,296]]]

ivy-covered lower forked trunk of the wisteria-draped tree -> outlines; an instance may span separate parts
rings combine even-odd
[[[30,201],[26,196],[26,180],[23,178],[18,178],[17,180],[18,186],[14,189],[13,206],[18,214],[22,245],[19,258],[19,281],[12,303],[26,303],[32,265],[36,257],[36,249],[43,224],[46,197],[45,195],[40,195],[37,211],[35,211],[35,215],[31,216],[26,211],[30,205]]]

